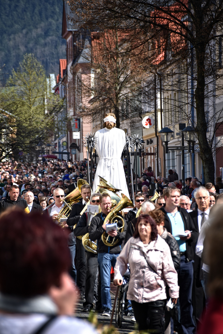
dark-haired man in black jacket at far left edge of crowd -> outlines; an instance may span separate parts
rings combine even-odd
[[[19,197],[19,187],[13,184],[10,188],[9,196],[1,201],[0,212],[5,211],[9,207],[12,208],[15,205],[23,210],[27,207],[26,201]]]

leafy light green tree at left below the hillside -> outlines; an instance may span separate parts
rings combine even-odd
[[[34,55],[26,54],[0,93],[0,161],[18,159],[19,152],[32,159],[50,135],[50,115],[61,105],[47,92],[43,66]]]

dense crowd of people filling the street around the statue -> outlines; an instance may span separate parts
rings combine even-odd
[[[217,269],[217,266],[221,266],[222,251],[219,250],[219,244],[213,244],[214,238],[221,242],[220,236],[216,236],[216,229],[219,228],[221,231],[221,216],[218,215],[221,210],[220,204],[223,203],[223,183],[220,177],[216,178],[215,185],[201,185],[196,177],[189,176],[185,180],[185,194],[182,194],[182,180],[179,180],[176,170],[169,170],[169,176],[165,179],[161,176],[156,178],[151,167],[148,167],[136,178],[134,207],[125,211],[124,218],[117,212],[117,225],[114,229],[107,230],[106,220],[111,213],[114,199],[108,192],[92,193],[87,182],[80,187],[80,196],[67,218],[58,217],[61,210],[67,206],[65,196],[77,187],[79,179],[87,180],[86,159],[74,163],[59,160],[45,160],[38,164],[3,162],[0,168],[0,272],[4,271],[4,275],[0,274],[0,311],[18,311],[18,307],[6,308],[9,296],[14,299],[19,297],[20,307],[22,300],[31,297],[35,300],[32,304],[33,312],[38,313],[36,309],[39,310],[42,304],[41,301],[36,301],[36,296],[47,292],[48,306],[43,309],[43,318],[34,318],[36,326],[33,328],[45,323],[48,314],[50,319],[52,315],[58,314],[59,317],[53,322],[53,326],[60,326],[60,321],[63,320],[60,316],[69,316],[73,312],[69,305],[75,300],[75,293],[66,274],[68,270],[79,288],[80,299],[83,302],[82,311],[88,313],[94,309],[105,317],[110,316],[111,267],[114,268],[114,284],[118,286],[123,284],[123,275],[129,264],[131,276],[124,315],[136,321],[139,330],[154,330],[157,334],[163,334],[164,331],[192,334],[196,330],[200,331],[199,333],[215,333],[206,331],[209,327],[204,326],[202,314],[206,308],[212,319],[213,329],[215,325],[211,312],[216,311],[214,302],[218,293],[219,296],[223,294],[222,278],[219,274],[221,269],[219,272]],[[91,172],[94,175],[96,169],[93,168]],[[155,193],[157,196],[154,197]],[[94,206],[99,206],[99,209],[87,212],[87,204],[90,204],[90,210],[93,210]],[[49,219],[50,216],[52,220]],[[42,225],[39,223],[41,226],[38,226],[39,220],[41,223],[44,222]],[[14,233],[10,234],[5,225],[9,231],[13,229]],[[33,230],[29,229],[29,225],[33,225]],[[57,225],[60,225],[60,228]],[[22,229],[22,233],[19,232],[19,228]],[[52,238],[59,238],[57,233],[64,238],[61,246],[58,245],[59,260],[55,254],[55,258],[46,257],[44,262],[41,257],[49,251],[47,247],[42,249],[41,245],[42,253],[35,253],[38,228],[45,233],[52,233]],[[47,228],[50,231],[47,231]],[[212,233],[209,233],[210,230]],[[43,232],[41,233],[43,235]],[[33,243],[30,241],[26,244],[25,240],[29,234],[33,236]],[[82,243],[83,235],[87,236],[88,247],[84,247]],[[49,240],[43,240],[46,246],[49,242],[49,247],[55,247]],[[13,242],[15,247],[10,246]],[[24,249],[19,249],[18,254],[22,259],[20,266],[23,266],[23,262],[25,265],[21,269],[13,262],[16,261],[13,260],[13,252],[17,252],[22,243]],[[59,254],[63,252],[65,243],[69,254],[65,252],[67,257],[62,265]],[[10,247],[13,249],[7,269],[5,261],[6,257],[10,256],[3,253],[10,252]],[[215,249],[218,257],[216,256],[216,261],[212,261],[210,254],[213,255]],[[29,260],[26,259],[26,252],[30,252]],[[33,260],[34,257],[36,260]],[[51,281],[43,283],[39,277],[43,271],[40,267],[47,267],[47,263],[53,264],[54,260],[59,261],[58,273],[56,274],[55,268],[52,279],[52,266],[45,268],[43,274],[48,279],[51,277]],[[38,262],[38,266],[32,268],[35,261]],[[28,269],[25,269],[25,266]],[[24,281],[21,277],[17,284],[12,284],[11,277],[17,277],[18,272],[21,273],[22,270],[30,270],[31,276],[27,276]],[[63,303],[63,306],[60,306],[60,301],[54,296],[59,293],[54,291],[54,286],[57,286],[59,281],[63,284],[60,283],[58,287],[66,290],[66,296],[68,291],[71,294],[70,299],[66,297],[68,312],[58,311],[60,307],[66,308]],[[39,286],[43,286],[40,291]],[[172,314],[167,323],[165,309],[168,299],[172,306],[176,305],[176,317]],[[57,305],[57,311],[53,309],[52,301]],[[27,300],[26,303],[29,305]],[[218,305],[222,308],[223,304],[218,301]],[[7,318],[8,315],[4,317]],[[218,317],[220,321],[221,315],[218,314]],[[29,321],[27,316],[27,323]],[[11,323],[20,326],[15,318]],[[72,325],[67,318],[65,323],[68,328]],[[1,326],[0,320],[0,331]]]

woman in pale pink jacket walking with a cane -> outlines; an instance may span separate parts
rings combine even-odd
[[[148,215],[138,218],[136,229],[122,249],[115,265],[114,284],[122,285],[127,264],[130,281],[127,299],[131,300],[139,330],[164,332],[166,284],[173,303],[179,296],[177,272],[168,244],[157,233],[154,219]]]

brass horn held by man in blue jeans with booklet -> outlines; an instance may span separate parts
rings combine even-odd
[[[104,223],[111,224],[117,222],[118,219],[121,219],[122,226],[118,227],[118,231],[123,232],[125,227],[125,221],[124,218],[118,216],[117,213],[122,209],[126,208],[127,206],[134,207],[132,201],[126,195],[122,194],[122,198],[120,199],[119,203],[113,209],[112,208],[110,209],[111,211],[107,214]],[[109,235],[106,236],[105,234],[107,233],[104,232],[102,234],[101,239],[106,246],[108,247],[115,246],[119,242],[119,240],[115,240],[115,237],[112,238],[112,241],[109,241],[110,236]]]

